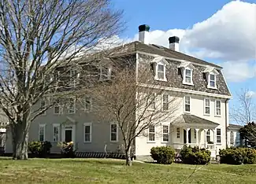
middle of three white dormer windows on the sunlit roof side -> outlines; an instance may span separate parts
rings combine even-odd
[[[195,67],[190,62],[180,64],[181,74],[183,77],[183,84],[194,85],[193,83],[193,70]]]

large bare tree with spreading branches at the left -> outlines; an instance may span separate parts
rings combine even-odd
[[[71,69],[83,54],[121,31],[122,12],[110,0],[1,0],[0,13],[0,108],[10,122],[13,158],[25,160],[30,124],[56,100],[32,107],[45,95],[69,94],[72,81],[59,79],[77,76]]]

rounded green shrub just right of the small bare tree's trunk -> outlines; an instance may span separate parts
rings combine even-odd
[[[172,164],[175,157],[175,151],[170,146],[153,147],[150,150],[150,154],[158,164]]]

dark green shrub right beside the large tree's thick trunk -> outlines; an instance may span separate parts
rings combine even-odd
[[[45,158],[50,155],[50,142],[28,142],[28,150],[36,157]]]

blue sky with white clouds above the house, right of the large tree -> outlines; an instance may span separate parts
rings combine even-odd
[[[121,38],[138,39],[138,26],[150,25],[150,42],[167,46],[180,37],[180,50],[221,65],[233,94],[246,88],[256,98],[255,0],[114,0],[124,9]]]

